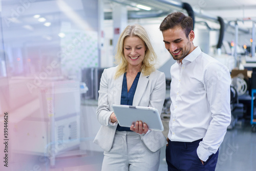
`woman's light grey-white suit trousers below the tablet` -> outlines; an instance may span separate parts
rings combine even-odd
[[[140,135],[129,131],[116,131],[110,152],[104,152],[101,171],[157,171],[160,149],[153,153]]]

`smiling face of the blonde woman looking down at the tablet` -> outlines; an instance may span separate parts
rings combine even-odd
[[[141,67],[145,56],[146,47],[144,41],[137,37],[126,37],[123,41],[123,53],[128,62],[128,68]]]

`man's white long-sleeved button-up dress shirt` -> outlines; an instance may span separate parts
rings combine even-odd
[[[198,157],[216,153],[230,124],[230,73],[227,67],[199,47],[170,68],[171,141],[199,139]]]

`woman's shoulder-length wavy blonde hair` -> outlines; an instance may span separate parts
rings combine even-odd
[[[145,56],[142,60],[142,66],[140,68],[141,73],[143,75],[150,75],[153,71],[155,71],[157,55],[151,45],[151,41],[146,30],[138,24],[129,25],[123,30],[117,42],[115,63],[118,65],[118,68],[115,74],[115,78],[119,77],[127,70],[128,62],[125,59],[123,52],[123,41],[126,37],[133,36],[141,38],[144,41],[146,47]]]

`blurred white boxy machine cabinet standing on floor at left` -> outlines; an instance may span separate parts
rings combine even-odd
[[[81,85],[86,90],[86,85]],[[48,157],[51,166],[55,165],[56,156],[81,154],[80,87],[75,80],[48,80],[38,87],[37,103],[30,105],[36,110],[13,123],[12,149]],[[18,114],[28,113],[27,110]]]

